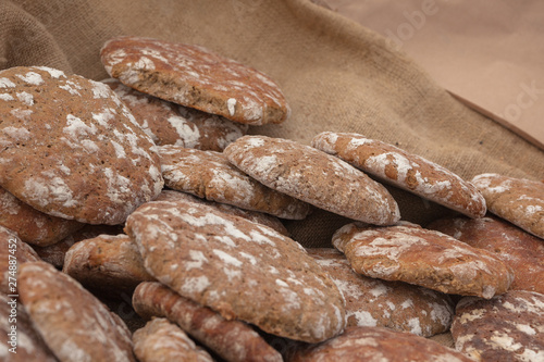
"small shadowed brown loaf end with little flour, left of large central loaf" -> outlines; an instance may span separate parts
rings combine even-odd
[[[154,280],[144,267],[128,235],[100,235],[72,246],[64,273],[92,290],[132,292],[141,282]]]

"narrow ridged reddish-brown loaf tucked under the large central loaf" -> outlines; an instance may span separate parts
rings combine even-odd
[[[164,316],[226,361],[281,362],[280,353],[254,328],[180,296],[160,283],[141,283],[133,305],[144,319]]]

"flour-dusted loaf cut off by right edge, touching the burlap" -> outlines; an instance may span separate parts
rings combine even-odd
[[[495,215],[544,239],[544,183],[499,174],[481,174],[472,183]]]

